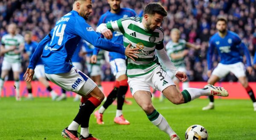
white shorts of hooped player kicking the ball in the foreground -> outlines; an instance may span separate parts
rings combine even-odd
[[[143,76],[128,77],[128,84],[132,95],[139,90],[150,92],[150,86],[162,92],[166,87],[175,85],[161,66],[157,66],[152,72]]]

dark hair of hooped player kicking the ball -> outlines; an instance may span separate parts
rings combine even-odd
[[[154,15],[155,13],[160,14],[163,17],[167,16],[167,11],[163,8],[161,3],[148,3],[144,8],[144,14]]]

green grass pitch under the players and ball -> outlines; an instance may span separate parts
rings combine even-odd
[[[130,99],[132,100],[132,99]],[[128,126],[113,123],[116,106],[111,105],[103,116],[104,125],[97,125],[91,115],[89,130],[101,140],[169,140],[146,117],[135,103],[124,105]],[[215,109],[202,111],[208,99],[196,99],[188,104],[174,105],[168,100],[153,101],[169,125],[184,140],[186,129],[199,124],[209,133],[209,140],[256,140],[256,112],[250,100],[215,100]],[[34,101],[0,99],[0,140],[62,140],[61,131],[67,127],[79,109],[73,98],[54,102],[50,98]],[[79,130],[80,132],[80,130]]]

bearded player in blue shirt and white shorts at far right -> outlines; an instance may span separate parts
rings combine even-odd
[[[245,69],[243,64],[243,57],[240,54],[240,50],[244,51],[247,60],[247,71],[252,73],[252,64],[250,61],[250,53],[244,43],[241,41],[238,34],[227,30],[227,19],[224,17],[218,17],[216,22],[216,28],[218,30],[212,38],[209,40],[209,49],[207,54],[208,71],[209,76],[208,84],[214,85],[221,78],[227,76],[232,72],[238,78],[239,82],[247,91],[251,100],[253,101],[254,111],[256,111],[256,100],[253,90],[248,84],[248,80],[245,75]],[[221,62],[212,72],[212,55],[215,48],[218,50],[218,54],[221,57]],[[205,106],[203,110],[214,109],[214,98],[209,96],[210,103]]]

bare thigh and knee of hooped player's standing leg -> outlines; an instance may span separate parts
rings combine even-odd
[[[148,91],[138,90],[133,95],[137,104],[147,113],[154,111],[154,106],[151,101],[151,93]]]

